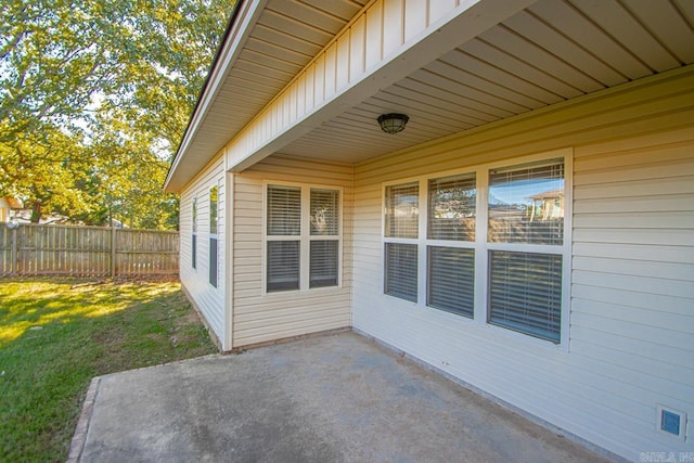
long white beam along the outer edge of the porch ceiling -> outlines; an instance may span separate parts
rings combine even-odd
[[[230,157],[228,165],[232,171],[236,172],[247,169],[314,128],[320,127],[324,121],[373,97],[380,90],[388,88],[404,76],[424,67],[453,48],[474,39],[517,12],[525,10],[536,1],[461,1],[449,14],[430,24],[421,34],[402,43],[389,55],[384,56],[378,64],[355,78],[340,92],[327,98],[311,113],[298,118],[293,124],[286,125],[274,137],[270,137],[248,150],[245,146],[247,146],[247,140],[253,137],[252,133],[255,126],[261,125],[266,119],[272,117],[268,111],[268,107],[272,104],[270,102],[248,126],[227,144],[224,153]],[[344,34],[344,30],[340,34]],[[324,52],[325,49],[321,53]],[[307,68],[312,63],[309,63]],[[293,85],[294,81],[290,82],[277,99],[290,98]]]

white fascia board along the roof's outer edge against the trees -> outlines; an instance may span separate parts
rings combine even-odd
[[[170,188],[172,178],[176,176],[181,162],[185,158],[189,146],[195,139],[195,136],[197,134],[197,131],[203,120],[205,119],[209,107],[221,90],[221,86],[231,72],[233,64],[236,62],[239,55],[243,51],[244,44],[248,40],[248,37],[250,36],[250,33],[253,33],[255,24],[258,22],[260,14],[262,14],[262,11],[268,3],[268,0],[237,1],[240,1],[241,4],[237,7],[239,11],[234,15],[234,25],[227,36],[224,43],[222,43],[221,46],[219,57],[216,60],[216,62],[214,63],[214,67],[209,72],[207,85],[205,86],[205,89],[200,97],[200,101],[195,106],[195,112],[193,113],[193,116],[191,117],[191,120],[185,129],[181,145],[179,146],[176,156],[174,157],[174,162],[171,163],[171,167],[166,177],[166,181],[164,182],[164,190],[167,192],[175,190]],[[211,159],[215,154],[216,153],[211,153],[209,155],[209,159]],[[201,168],[204,165],[205,163],[203,163]]]

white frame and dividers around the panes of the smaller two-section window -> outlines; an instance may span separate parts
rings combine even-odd
[[[290,187],[301,190],[301,230],[298,235],[293,236],[272,236],[268,235],[268,187]],[[336,235],[311,235],[311,190],[332,190],[339,195],[337,201],[337,234]],[[344,189],[342,187],[318,184],[318,183],[296,183],[287,181],[264,180],[262,182],[262,253],[261,253],[261,284],[264,296],[278,296],[305,293],[314,291],[333,291],[343,286],[343,204]],[[298,240],[297,240],[298,237]],[[298,241],[299,242],[299,288],[286,291],[268,292],[268,241]],[[310,258],[311,258],[311,241],[337,241],[337,285],[309,287],[310,285]]]

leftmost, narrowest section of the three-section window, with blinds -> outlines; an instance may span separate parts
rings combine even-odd
[[[420,185],[386,187],[385,294],[417,300]]]

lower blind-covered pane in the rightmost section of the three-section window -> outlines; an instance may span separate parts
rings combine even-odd
[[[489,252],[489,323],[560,343],[562,256]]]

